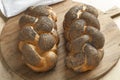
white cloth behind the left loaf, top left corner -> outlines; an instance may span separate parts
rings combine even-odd
[[[0,0],[0,10],[4,16],[11,17],[33,5],[50,5],[60,1],[63,0]]]

